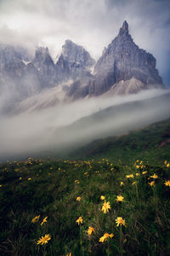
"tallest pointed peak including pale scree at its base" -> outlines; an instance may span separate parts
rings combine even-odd
[[[164,88],[156,69],[156,59],[134,44],[125,20],[117,37],[97,61],[93,79],[89,80],[86,88],[83,86],[81,89],[79,85],[72,96],[127,94],[151,88]]]

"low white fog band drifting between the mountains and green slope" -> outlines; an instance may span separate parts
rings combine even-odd
[[[0,116],[0,160],[60,156],[94,139],[120,135],[167,119],[167,92],[147,90],[131,96],[101,96],[37,112]],[[112,108],[99,112],[108,107]]]

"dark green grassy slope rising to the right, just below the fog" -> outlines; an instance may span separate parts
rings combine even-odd
[[[131,131],[120,137],[107,137],[78,148],[71,154],[74,158],[100,159],[131,162],[141,158],[152,164],[170,158],[170,119]]]

